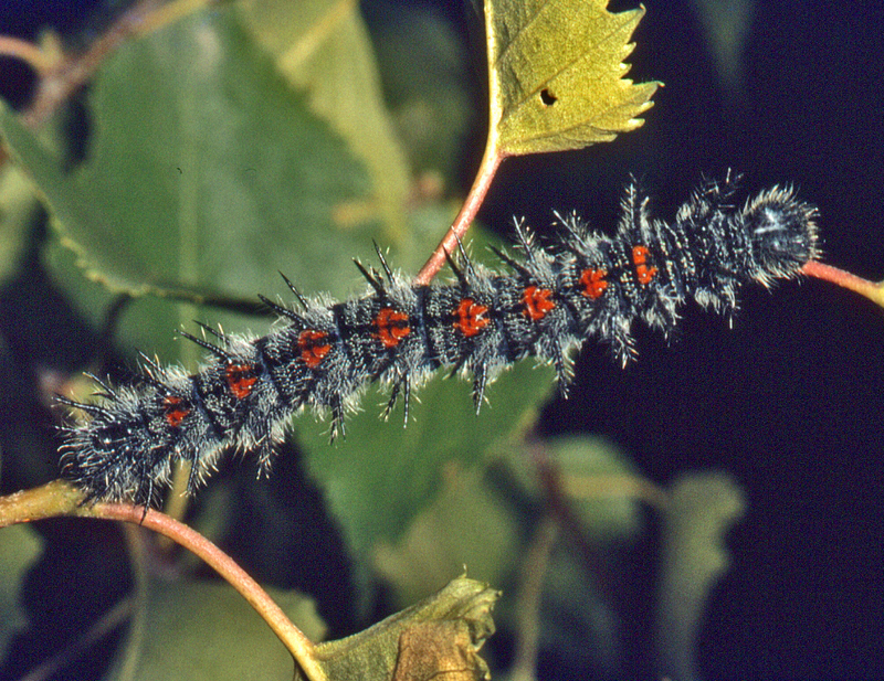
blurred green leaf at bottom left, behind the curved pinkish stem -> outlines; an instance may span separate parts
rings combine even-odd
[[[269,589],[307,637],[325,626],[311,599]],[[131,681],[291,679],[292,656],[245,599],[225,584],[155,579],[144,605],[144,631],[127,650]],[[120,669],[112,678],[116,678]]]

